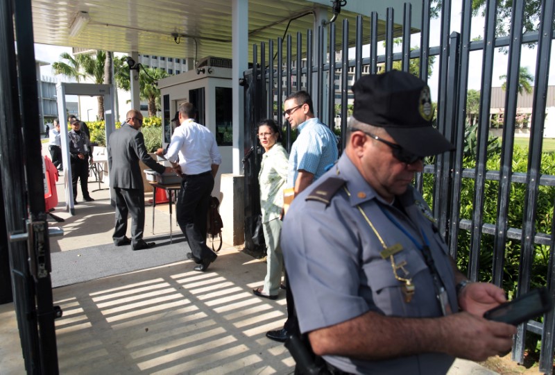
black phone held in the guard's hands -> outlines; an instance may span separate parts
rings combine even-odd
[[[547,313],[552,307],[553,300],[547,289],[539,288],[486,311],[484,318],[518,326]]]

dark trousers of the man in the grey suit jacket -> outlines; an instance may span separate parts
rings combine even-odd
[[[116,195],[116,225],[112,240],[120,243],[126,237],[127,215],[131,215],[131,244],[135,246],[144,233],[144,190],[114,188]]]

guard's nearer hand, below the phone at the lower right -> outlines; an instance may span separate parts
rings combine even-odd
[[[445,352],[457,358],[483,361],[511,351],[516,327],[462,312],[441,318]]]

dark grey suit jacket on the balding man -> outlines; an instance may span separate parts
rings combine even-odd
[[[144,190],[139,160],[158,173],[164,173],[166,169],[146,152],[143,133],[124,123],[108,140],[110,186]]]

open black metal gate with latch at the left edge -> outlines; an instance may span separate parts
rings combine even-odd
[[[7,232],[0,249],[9,253],[26,372],[58,374],[54,319],[61,312],[52,301],[33,46],[31,0],[0,1],[0,175]]]

